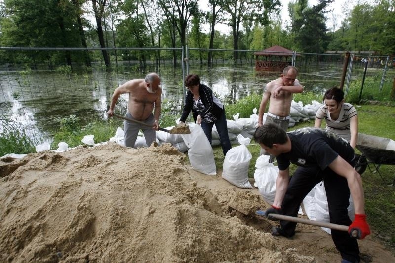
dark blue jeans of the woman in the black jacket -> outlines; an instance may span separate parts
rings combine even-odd
[[[214,122],[201,122],[201,128],[204,131],[204,134],[206,135],[208,141],[211,144],[211,133],[213,130],[213,126],[215,124],[215,127],[217,128],[217,132],[219,135],[219,140],[221,141],[221,147],[222,151],[224,153],[224,156],[232,148],[231,141],[229,140],[229,134],[228,134],[228,124],[226,123],[226,116],[225,116],[225,110],[221,114],[221,117],[217,119]]]

